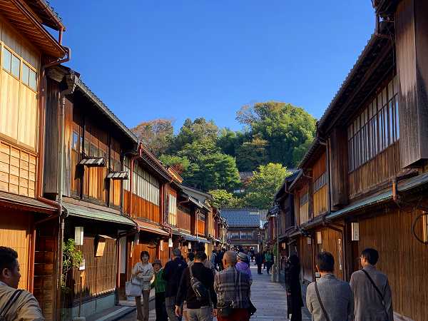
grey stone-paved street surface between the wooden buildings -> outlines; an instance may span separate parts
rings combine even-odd
[[[271,282],[270,275],[263,270],[263,275],[257,274],[257,268],[251,266],[253,273],[253,285],[251,287],[251,300],[258,311],[251,317],[254,321],[285,321],[287,319],[287,300],[285,288],[282,284]],[[152,302],[154,303],[154,302]],[[152,307],[153,306],[153,307]],[[150,321],[156,321],[154,304],[150,312]],[[123,319],[123,321],[136,320],[136,312],[133,312]],[[216,320],[216,319],[215,319]],[[303,312],[304,321],[311,320]]]

